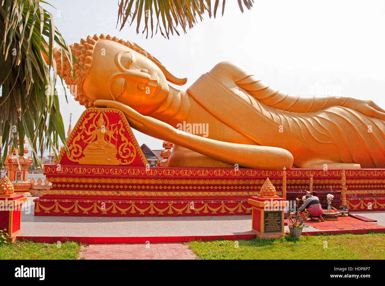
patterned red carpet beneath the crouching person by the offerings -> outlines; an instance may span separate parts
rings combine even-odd
[[[328,229],[385,229],[385,226],[380,226],[377,223],[360,221],[353,217],[338,217],[338,221],[306,221],[304,223],[321,231]]]

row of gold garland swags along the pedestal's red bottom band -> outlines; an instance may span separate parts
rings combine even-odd
[[[53,202],[54,204],[50,207],[45,207],[45,206],[42,206],[41,202]],[[214,204],[215,202],[214,201],[211,201],[211,202],[194,202],[194,201],[191,201],[191,202],[174,202],[174,201],[171,201],[171,202],[160,202],[161,204],[167,204],[168,206],[165,207],[164,209],[159,209],[157,208],[156,206],[154,206],[154,204],[156,202],[153,202],[153,201],[149,201],[149,202],[132,202],[132,201],[127,201],[127,202],[124,202],[124,201],[120,201],[120,202],[112,202],[112,201],[97,201],[97,202],[93,202],[93,201],[75,201],[74,204],[70,207],[63,207],[60,205],[60,202],[70,202],[68,200],[63,200],[63,201],[60,201],[60,200],[48,200],[48,199],[44,199],[42,201],[36,201],[35,204],[36,204],[36,207],[35,207],[35,212],[40,212],[42,209],[44,211],[44,213],[50,213],[50,211],[54,209],[54,212],[58,213],[60,212],[59,208],[62,209],[64,211],[65,214],[69,214],[69,211],[71,209],[74,209],[74,213],[78,213],[79,210],[78,208],[83,211],[83,214],[88,214],[88,212],[92,210],[92,212],[94,214],[97,214],[99,213],[99,211],[101,212],[102,215],[107,215],[109,211],[111,211],[112,214],[115,214],[117,213],[117,211],[121,212],[121,215],[126,215],[126,213],[129,211],[131,214],[135,214],[136,211],[139,211],[139,215],[144,215],[146,214],[147,211],[148,214],[155,214],[157,212],[157,214],[159,216],[162,216],[164,214],[164,212],[167,211],[167,214],[174,214],[174,211],[177,212],[178,215],[182,215],[183,212],[186,213],[186,214],[190,214],[191,211],[194,211],[195,214],[199,214],[201,211],[203,211],[203,213],[207,214],[209,211],[211,211],[211,214],[217,214],[217,212],[219,210],[221,210],[220,212],[222,214],[226,213],[226,211],[229,212],[229,214],[234,214],[234,211],[236,211],[237,209],[237,212],[238,213],[243,213],[245,211],[246,214],[250,214],[251,213],[251,207],[245,207],[243,206],[243,201],[240,201],[240,202],[236,202],[236,201],[221,201],[221,206],[219,207],[211,207],[209,206],[209,204]],[[92,203],[92,206],[90,207],[81,207],[79,205],[79,202],[83,202],[83,203]],[[99,204],[111,204],[111,206],[109,207],[101,207],[99,206]],[[117,206],[117,204],[122,204],[122,203],[129,203],[130,206],[125,208],[125,209],[122,209],[121,207]],[[144,209],[141,209],[137,206],[137,204],[149,204],[148,207],[144,208]],[[158,202],[159,203],[159,202]],[[216,202],[218,203],[218,202]],[[235,207],[229,207],[228,204],[234,204],[234,203],[238,203],[237,206]],[[184,207],[182,208],[177,208],[174,206],[174,204],[185,204]],[[199,207],[199,208],[191,208],[192,205],[194,204],[203,204],[203,206]],[[227,204],[227,205],[226,205]],[[156,212],[155,212],[156,211]]]

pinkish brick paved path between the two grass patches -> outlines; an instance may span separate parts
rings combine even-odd
[[[194,259],[182,243],[90,244],[84,259]]]

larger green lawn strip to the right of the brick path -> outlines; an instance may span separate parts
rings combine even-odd
[[[200,259],[385,259],[385,233],[192,241]],[[306,256],[301,254],[306,253]]]

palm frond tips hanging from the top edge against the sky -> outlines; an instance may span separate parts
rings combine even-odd
[[[254,0],[238,0],[239,8],[243,13],[242,2],[247,9],[251,9]],[[222,16],[225,3],[226,0],[223,0]],[[219,0],[215,0],[214,18],[218,7]],[[117,25],[120,21],[120,30],[122,30],[129,17],[131,17],[130,26],[136,18],[136,33],[139,34],[139,26],[141,25],[142,16],[144,15],[144,30],[142,31],[142,34],[146,32],[146,38],[148,37],[149,32],[149,19],[151,25],[151,37],[153,35],[155,20],[155,33],[157,33],[159,28],[162,36],[169,38],[170,32],[174,35],[175,31],[175,33],[179,35],[179,32],[176,30],[178,25],[180,25],[183,32],[186,33],[187,26],[188,28],[194,27],[197,22],[197,17],[202,21],[202,15],[205,11],[208,12],[209,17],[211,18],[211,0],[120,0]],[[156,18],[153,17],[153,12],[155,12]]]

